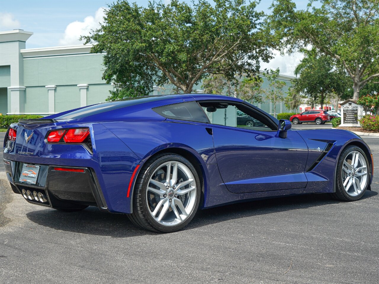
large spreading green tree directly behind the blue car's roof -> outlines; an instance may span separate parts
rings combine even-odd
[[[188,5],[149,2],[147,8],[118,0],[104,24],[84,36],[93,53],[105,51],[103,79],[134,95],[171,83],[184,93],[211,74],[232,81],[255,75],[272,58],[271,36],[260,27],[263,12],[244,0],[200,0]]]

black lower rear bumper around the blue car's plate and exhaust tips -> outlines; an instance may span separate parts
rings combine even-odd
[[[96,173],[91,168],[73,167],[83,172],[66,172],[54,170],[54,165],[40,165],[37,183],[33,185],[19,182],[22,162],[4,159],[4,164],[13,192],[21,194],[24,189],[46,193],[48,202],[43,204],[25,198],[30,203],[53,208],[70,208],[75,204],[90,205],[99,207],[100,211],[108,212]]]

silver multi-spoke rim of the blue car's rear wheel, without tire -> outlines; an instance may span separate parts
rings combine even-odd
[[[178,161],[161,164],[150,176],[146,201],[152,217],[164,226],[182,223],[196,204],[196,181],[188,167]]]

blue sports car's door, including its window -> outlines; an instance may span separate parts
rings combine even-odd
[[[233,193],[298,189],[307,184],[308,148],[297,131],[277,136],[277,126],[267,114],[244,103],[200,101],[210,120],[218,168]],[[263,126],[237,125],[236,111]]]

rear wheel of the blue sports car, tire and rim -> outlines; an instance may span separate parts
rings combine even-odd
[[[191,221],[199,202],[200,180],[193,165],[180,155],[160,154],[141,169],[128,217],[150,231],[174,232]]]

